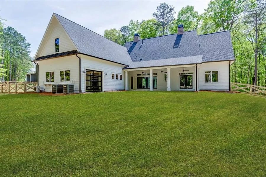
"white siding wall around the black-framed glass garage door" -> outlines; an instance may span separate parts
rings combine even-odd
[[[85,69],[91,69],[95,71],[103,72],[103,91],[112,90],[124,90],[125,89],[125,72],[122,71],[124,65],[113,63],[110,61],[90,57],[87,55],[81,55],[81,90],[85,92],[85,76],[86,74],[82,71]],[[107,75],[105,75],[107,74]],[[116,76],[112,79],[112,74],[122,75],[122,80],[120,78],[116,80]]]

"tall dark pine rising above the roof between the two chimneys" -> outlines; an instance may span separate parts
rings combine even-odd
[[[161,3],[160,6],[156,8],[157,13],[153,12],[153,17],[158,21],[158,24],[162,27],[163,35],[168,31],[168,25],[174,20],[174,7],[166,3]]]

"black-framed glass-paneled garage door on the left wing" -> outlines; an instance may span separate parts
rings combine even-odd
[[[86,92],[103,91],[102,72],[86,69]]]

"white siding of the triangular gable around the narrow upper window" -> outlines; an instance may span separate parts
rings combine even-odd
[[[54,54],[56,38],[59,38],[59,53],[76,50],[61,24],[59,24],[56,17],[53,17],[37,57]]]

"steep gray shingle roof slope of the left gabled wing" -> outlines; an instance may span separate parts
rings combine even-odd
[[[107,38],[58,14],[55,14],[55,16],[62,24],[80,53],[124,65],[129,65],[132,62],[127,53],[126,47],[108,40]]]

